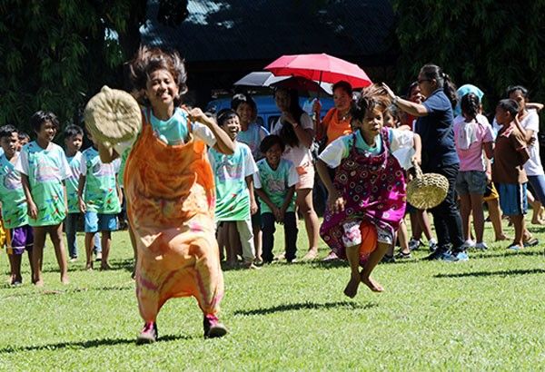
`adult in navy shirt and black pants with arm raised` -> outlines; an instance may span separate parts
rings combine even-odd
[[[447,197],[431,209],[437,232],[437,250],[428,259],[467,260],[461,235],[461,216],[456,206],[454,182],[458,174],[459,160],[454,146],[452,108],[456,105],[456,87],[441,67],[426,64],[418,74],[423,103],[403,100],[390,88],[393,103],[402,111],[417,117],[415,132],[422,141],[422,171],[442,174],[449,180]]]

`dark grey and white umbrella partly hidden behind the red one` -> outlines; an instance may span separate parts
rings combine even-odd
[[[320,88],[328,94],[332,94],[332,83],[318,83],[300,76],[274,76],[268,71],[248,73],[233,85],[237,86],[284,86],[301,91],[317,92]]]

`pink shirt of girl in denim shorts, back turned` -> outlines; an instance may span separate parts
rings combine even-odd
[[[486,171],[482,144],[494,141],[488,120],[478,115],[478,122],[465,122],[463,116],[454,119],[454,143],[460,158],[460,171]]]

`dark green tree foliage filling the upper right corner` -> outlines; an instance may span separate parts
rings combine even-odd
[[[510,84],[545,101],[545,1],[393,0],[399,18],[399,88],[422,64],[440,65],[458,85],[473,83],[489,110]]]

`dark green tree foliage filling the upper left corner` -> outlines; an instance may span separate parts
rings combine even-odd
[[[122,85],[120,43],[144,15],[145,1],[2,1],[0,124],[27,129],[37,110],[73,121],[104,83]]]

